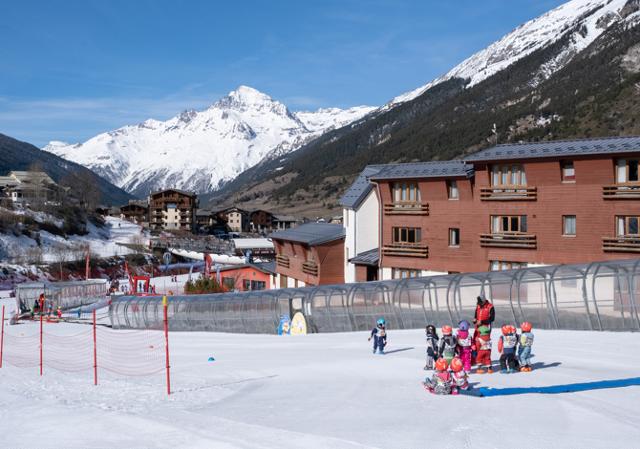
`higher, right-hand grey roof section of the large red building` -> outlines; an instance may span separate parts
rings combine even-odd
[[[465,158],[467,162],[588,156],[594,154],[638,153],[640,137],[602,137],[582,140],[556,140],[497,145]]]

